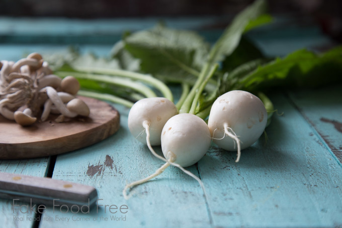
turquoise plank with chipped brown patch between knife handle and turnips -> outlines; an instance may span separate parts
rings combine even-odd
[[[127,205],[125,214],[111,214],[108,207],[100,206],[91,214],[53,212],[50,208],[43,217],[53,221],[41,221],[42,227],[208,227],[206,201],[197,181],[180,170],[171,167],[153,181],[132,189],[132,197],[126,201],[122,190],[125,184],[144,178],[159,168],[162,162],[154,158],[147,146],[135,140],[127,127],[127,109],[119,108],[121,128],[112,137],[85,149],[58,156],[53,178],[92,185],[98,189],[99,204]],[[160,152],[160,149],[159,149]],[[189,170],[198,174],[196,166]],[[73,221],[87,217],[97,221]],[[111,215],[126,221],[111,220]],[[69,221],[58,221],[56,216]],[[100,221],[107,217],[108,221]],[[43,218],[44,219],[44,218]]]

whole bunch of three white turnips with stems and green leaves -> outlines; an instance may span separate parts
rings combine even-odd
[[[341,47],[324,54],[303,49],[283,58],[265,57],[244,35],[271,22],[265,12],[266,2],[255,1],[213,45],[194,31],[157,25],[125,34],[114,45],[110,60],[88,57],[84,63],[84,56],[76,56],[55,71],[61,77],[72,73],[81,84],[82,95],[132,107],[128,117],[132,137],[165,162],[151,176],[128,184],[125,197],[128,189],[170,165],[204,188],[184,167],[197,163],[211,141],[222,151],[237,151],[238,162],[240,150],[257,141],[270,124],[274,108],[265,95],[269,90],[341,82]],[[329,75],[324,82],[321,72]],[[176,104],[167,87],[171,84],[182,89]],[[164,157],[152,147],[159,144]]]

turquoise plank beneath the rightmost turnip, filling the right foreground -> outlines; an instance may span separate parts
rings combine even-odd
[[[266,145],[259,140],[243,150],[239,163],[235,153],[214,146],[199,162],[213,225],[342,225],[341,164],[288,99],[271,98],[284,115],[274,116]]]

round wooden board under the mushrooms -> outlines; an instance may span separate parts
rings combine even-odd
[[[89,117],[58,115],[44,122],[22,127],[0,115],[0,159],[28,159],[66,153],[89,146],[114,134],[120,127],[119,112],[106,102],[78,97],[90,108]]]

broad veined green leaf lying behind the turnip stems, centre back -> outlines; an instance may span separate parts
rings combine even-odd
[[[141,70],[169,78],[197,77],[209,45],[195,32],[156,26],[133,33],[125,48],[141,60]]]

